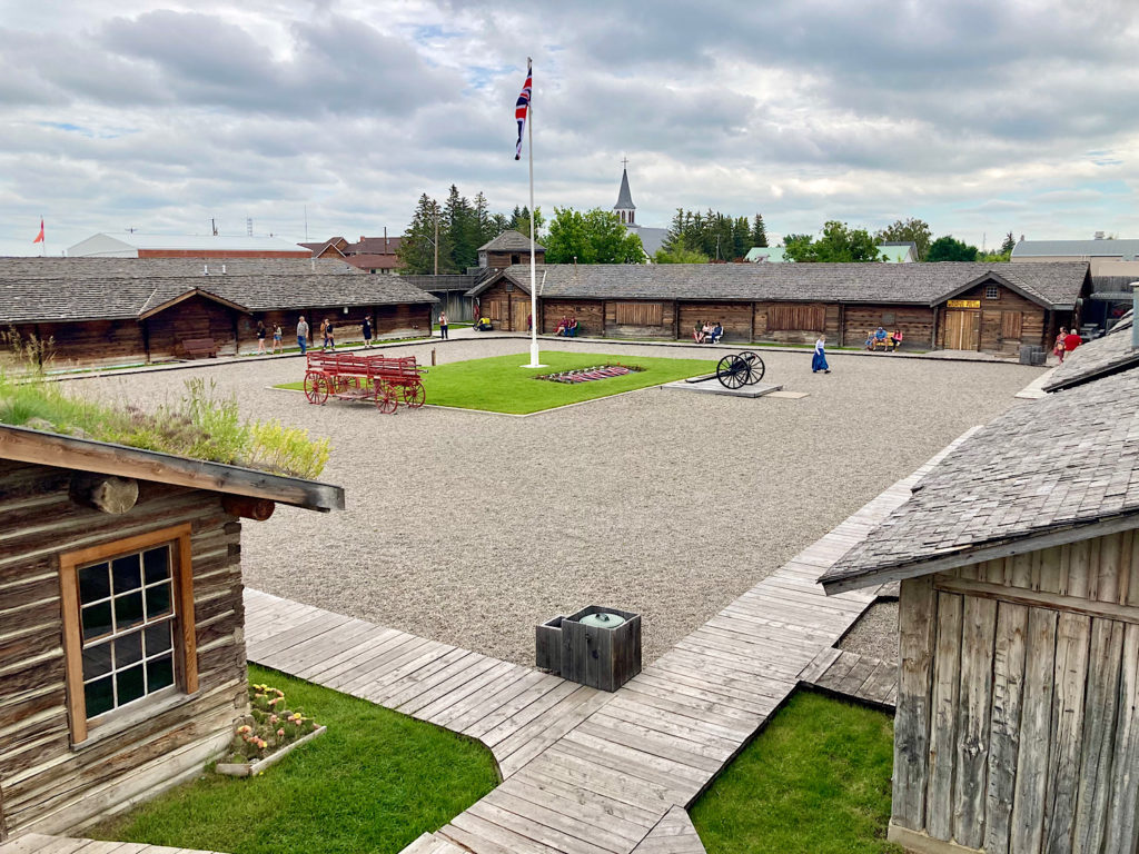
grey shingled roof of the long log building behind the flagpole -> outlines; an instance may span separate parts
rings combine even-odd
[[[1071,309],[1088,280],[1087,262],[1041,264],[544,264],[542,297],[722,299],[937,305],[995,280],[1051,309]],[[526,289],[530,265],[508,276]],[[468,294],[477,296],[500,276]]]

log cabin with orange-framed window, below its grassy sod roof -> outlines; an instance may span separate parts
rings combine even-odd
[[[0,841],[199,774],[247,711],[240,518],[337,486],[0,426]]]

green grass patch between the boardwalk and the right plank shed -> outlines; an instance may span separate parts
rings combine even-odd
[[[798,692],[691,808],[708,854],[902,854],[886,841],[893,721]]]

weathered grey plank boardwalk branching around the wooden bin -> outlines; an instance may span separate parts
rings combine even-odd
[[[877,594],[827,597],[816,578],[950,449],[614,693],[255,591],[249,659],[490,747],[503,782],[408,854],[697,854],[685,807]]]

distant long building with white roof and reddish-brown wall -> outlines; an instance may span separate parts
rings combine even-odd
[[[279,237],[100,232],[69,247],[67,255],[75,258],[306,258],[312,253]]]

